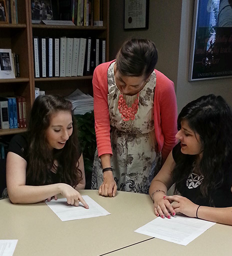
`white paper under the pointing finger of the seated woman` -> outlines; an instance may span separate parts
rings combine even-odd
[[[66,198],[51,200],[46,202],[46,204],[62,221],[98,217],[110,214],[88,195],[82,195],[82,197],[88,204],[88,209],[84,208],[81,202],[79,202],[79,206],[69,205],[67,204]]]

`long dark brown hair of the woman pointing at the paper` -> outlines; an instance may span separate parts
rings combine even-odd
[[[62,149],[48,148],[45,131],[50,117],[58,111],[68,111],[72,115],[73,131]],[[75,187],[82,179],[78,169],[79,152],[76,121],[70,101],[58,95],[39,95],[34,100],[28,125],[28,165],[26,183],[31,185],[50,184],[51,168],[56,169],[57,182]],[[54,165],[57,161],[57,166]]]

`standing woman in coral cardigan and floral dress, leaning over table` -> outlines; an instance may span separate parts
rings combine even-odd
[[[123,43],[116,60],[93,73],[97,151],[91,188],[148,193],[176,133],[173,82],[154,69],[157,50],[148,39]]]

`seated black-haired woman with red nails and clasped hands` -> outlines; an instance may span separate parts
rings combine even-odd
[[[232,225],[232,112],[221,96],[201,96],[178,115],[179,143],[153,178],[156,216],[177,212]],[[175,183],[175,193],[166,195]]]

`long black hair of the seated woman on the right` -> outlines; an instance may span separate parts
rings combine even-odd
[[[199,162],[199,171],[203,175],[200,191],[203,197],[220,186],[224,172],[231,164],[232,157],[232,112],[221,96],[209,94],[191,101],[183,107],[178,115],[177,127],[186,120],[188,126],[199,134],[203,152]],[[176,189],[181,191],[181,184],[190,171],[195,155],[181,154],[172,171]],[[185,185],[185,184],[184,184]],[[212,202],[211,202],[212,203]]]

